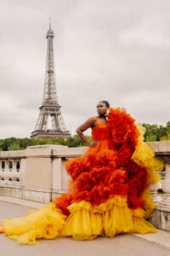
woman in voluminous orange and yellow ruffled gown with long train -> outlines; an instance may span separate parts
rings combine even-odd
[[[156,207],[148,184],[158,182],[159,164],[143,143],[142,127],[120,108],[110,108],[107,119],[109,107],[108,102],[99,102],[99,115],[77,128],[89,148],[65,164],[71,176],[69,191],[24,218],[3,220],[2,232],[9,238],[37,244],[38,238],[90,240],[156,231],[145,218]],[[93,143],[83,135],[89,127]]]

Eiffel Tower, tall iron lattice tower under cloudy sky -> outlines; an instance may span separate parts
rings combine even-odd
[[[48,40],[45,83],[42,96],[42,106],[39,108],[40,113],[37,119],[35,130],[31,132],[31,137],[70,137],[71,133],[66,129],[65,121],[62,117],[55,86],[55,70],[54,70],[54,32],[51,29],[49,21],[49,29],[46,36]]]

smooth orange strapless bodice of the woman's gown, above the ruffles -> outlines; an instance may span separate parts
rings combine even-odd
[[[111,140],[111,132],[109,130],[108,125],[105,125],[105,124],[96,125],[92,130],[92,139],[93,141]]]

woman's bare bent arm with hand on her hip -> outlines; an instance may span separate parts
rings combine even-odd
[[[77,134],[78,136],[82,139],[82,142],[86,143],[86,145],[88,147],[90,146],[96,146],[97,145],[97,141],[94,141],[93,143],[89,143],[87,138],[83,135],[83,131],[86,131],[88,130],[88,128],[90,128],[92,125],[95,124],[95,121],[96,121],[96,118],[95,117],[92,117],[90,119],[88,119],[84,124],[80,125],[78,128],[77,128]]]

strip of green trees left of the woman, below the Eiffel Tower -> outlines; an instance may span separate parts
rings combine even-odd
[[[92,139],[90,136],[86,136],[88,141],[91,143]],[[82,142],[81,138],[77,135],[69,137],[65,139],[64,137],[42,137],[41,139],[37,138],[16,138],[16,137],[9,137],[6,139],[0,139],[0,151],[8,151],[8,150],[23,150],[29,146],[36,146],[36,145],[44,145],[44,144],[54,144],[54,145],[64,145],[68,146],[69,148],[73,147],[84,147],[86,146],[85,143]]]

